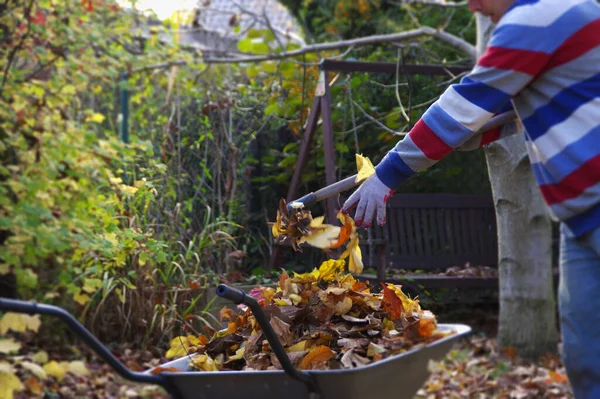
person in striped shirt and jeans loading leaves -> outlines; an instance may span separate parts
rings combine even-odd
[[[600,3],[597,0],[469,0],[496,28],[473,71],[450,86],[344,203],[357,225],[385,223],[385,202],[415,172],[514,107],[531,165],[561,222],[559,310],[563,360],[577,398],[600,398]],[[513,129],[516,131],[517,129]],[[595,303],[595,302],[592,302]],[[589,342],[588,342],[589,341]]]

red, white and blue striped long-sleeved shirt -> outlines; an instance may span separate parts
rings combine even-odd
[[[600,226],[600,3],[517,0],[473,71],[450,86],[377,165],[395,188],[472,143],[513,106],[533,171],[556,219],[580,236]],[[501,138],[480,135],[479,145]]]

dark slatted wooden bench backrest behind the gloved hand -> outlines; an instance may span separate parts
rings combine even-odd
[[[491,196],[396,194],[387,203],[387,224],[363,232],[366,265],[378,262],[377,245],[386,246],[386,267],[444,269],[497,266],[496,216]],[[373,250],[373,252],[371,252]]]

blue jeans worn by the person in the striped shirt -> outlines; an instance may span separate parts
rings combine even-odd
[[[600,228],[575,238],[561,226],[558,302],[575,398],[600,398]]]

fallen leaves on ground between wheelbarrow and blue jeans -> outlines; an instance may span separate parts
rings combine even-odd
[[[551,354],[539,360],[521,359],[512,348],[471,336],[441,362],[431,362],[431,375],[416,398],[573,398],[565,369]]]

